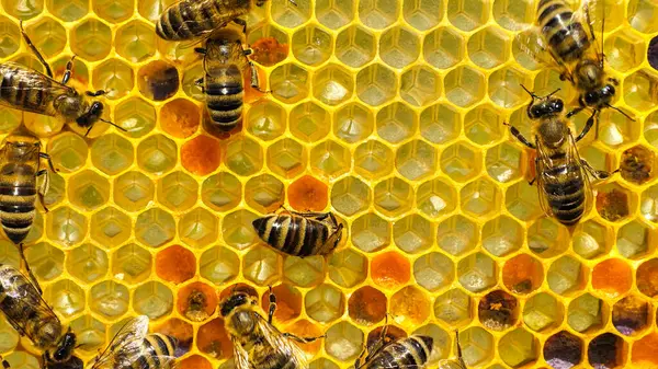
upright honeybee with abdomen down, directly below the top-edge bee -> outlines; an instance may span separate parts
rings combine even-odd
[[[259,89],[258,72],[247,58],[250,49],[242,47],[240,35],[223,28],[209,38],[205,48],[195,48],[204,56],[205,77],[196,81],[206,99],[213,128],[229,131],[242,122],[242,72],[251,69],[251,87]]]

